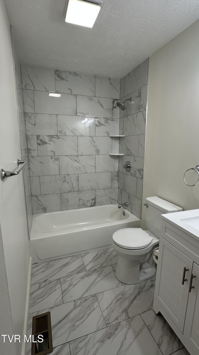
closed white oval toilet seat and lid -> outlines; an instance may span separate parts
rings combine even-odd
[[[125,249],[143,249],[149,246],[153,238],[141,228],[119,229],[113,234],[113,241]]]

